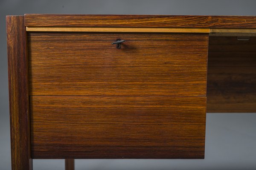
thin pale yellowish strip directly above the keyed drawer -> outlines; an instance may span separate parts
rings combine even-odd
[[[26,31],[210,33],[210,28],[26,27]]]

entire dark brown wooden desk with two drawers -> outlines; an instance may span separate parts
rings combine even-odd
[[[256,112],[256,17],[26,14],[6,26],[13,170],[204,159],[206,112]]]

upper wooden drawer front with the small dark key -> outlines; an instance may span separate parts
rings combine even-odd
[[[207,52],[208,34],[31,32],[30,95],[205,96]]]

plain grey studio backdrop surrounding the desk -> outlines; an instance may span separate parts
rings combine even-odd
[[[254,15],[254,0],[0,0],[0,170],[11,169],[6,15]],[[64,170],[63,160],[34,160],[35,170]],[[256,114],[207,113],[204,160],[76,160],[77,170],[256,170]]]

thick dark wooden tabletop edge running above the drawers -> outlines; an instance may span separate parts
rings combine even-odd
[[[25,14],[26,26],[256,28],[255,16]]]

